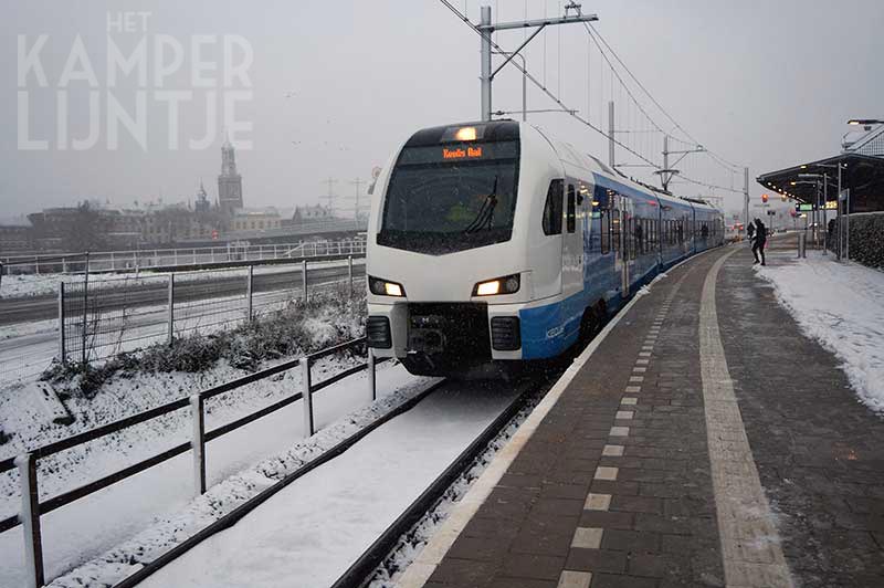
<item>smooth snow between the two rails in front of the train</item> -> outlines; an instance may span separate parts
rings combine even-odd
[[[143,586],[329,586],[517,392],[464,384],[434,392]]]

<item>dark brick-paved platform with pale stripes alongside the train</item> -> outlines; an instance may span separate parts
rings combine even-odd
[[[706,252],[587,347],[398,586],[882,587],[884,419],[745,243]]]

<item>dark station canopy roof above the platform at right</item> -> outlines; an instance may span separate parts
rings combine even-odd
[[[850,189],[851,212],[884,210],[884,124],[845,137],[840,155],[769,171],[756,178],[765,188],[788,196],[798,202],[815,203],[818,182],[809,174],[827,176],[828,198],[838,198],[838,166],[841,187]],[[822,201],[822,196],[819,196]]]

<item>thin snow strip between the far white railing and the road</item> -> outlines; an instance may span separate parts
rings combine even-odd
[[[359,265],[365,263],[365,259],[354,259],[354,265]],[[337,267],[341,265],[346,265],[347,261],[330,261],[330,262],[313,262],[309,264],[311,267],[322,266],[322,267]],[[285,272],[299,272],[301,264],[299,263],[292,263],[292,264],[280,264],[280,265],[256,265],[255,266],[255,274],[272,274],[272,273],[285,273]],[[224,270],[198,270],[192,272],[176,272],[175,279],[179,281],[201,281],[201,280],[217,280],[221,277],[231,277],[238,275],[245,275],[245,267],[232,267],[232,269],[224,269]],[[107,283],[112,285],[114,283],[122,283],[123,281],[135,281],[137,279],[138,283],[145,284],[149,280],[154,279],[157,282],[166,283],[166,276],[169,275],[170,272],[150,272],[145,271],[140,273],[136,272],[108,272],[108,273],[96,273],[90,274],[90,282],[92,283]],[[82,282],[83,274],[17,274],[17,275],[3,275],[2,281],[0,281],[0,296],[4,298],[15,298],[15,297],[24,297],[24,296],[42,296],[48,294],[55,294],[59,292],[59,282]]]

